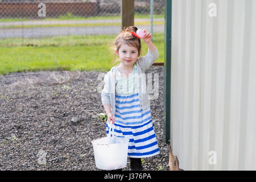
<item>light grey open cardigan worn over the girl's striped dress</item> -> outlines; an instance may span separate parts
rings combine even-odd
[[[135,74],[135,79],[139,82],[139,98],[141,103],[141,109],[145,110],[150,107],[150,100],[148,97],[148,92],[146,88],[146,74],[145,71],[158,59],[158,49],[155,48],[155,51],[150,51],[148,49],[148,53],[139,57],[136,61],[137,64],[137,74]],[[117,67],[117,65],[115,66]],[[112,114],[115,114],[115,84],[117,84],[117,80],[115,80],[113,76],[112,67],[108,73],[106,73],[104,77],[104,89],[101,92],[101,101],[102,105],[109,104],[112,109]]]

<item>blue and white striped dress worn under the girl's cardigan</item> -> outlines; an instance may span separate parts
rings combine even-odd
[[[139,89],[133,73],[127,78],[115,67],[115,122],[113,134],[129,139],[128,156],[130,158],[146,158],[159,154],[158,142],[152,124],[150,108],[142,110],[139,102]],[[106,133],[109,133],[108,122]]]

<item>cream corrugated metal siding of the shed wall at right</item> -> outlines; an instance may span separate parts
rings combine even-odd
[[[255,35],[254,0],[172,0],[171,146],[180,168],[256,169]]]

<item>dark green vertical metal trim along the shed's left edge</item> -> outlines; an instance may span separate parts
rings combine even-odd
[[[172,0],[165,1],[164,13],[164,142],[170,144],[171,131],[171,38]]]

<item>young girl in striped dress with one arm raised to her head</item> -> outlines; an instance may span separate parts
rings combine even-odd
[[[121,63],[106,73],[101,100],[108,115],[106,133],[112,123],[114,135],[129,139],[131,170],[142,170],[141,158],[159,154],[144,73],[158,58],[158,50],[151,42],[152,35],[146,32],[143,40],[148,53],[139,57],[141,39],[132,31],[137,27],[127,27],[115,39],[115,53]]]

